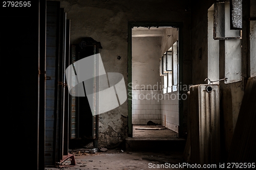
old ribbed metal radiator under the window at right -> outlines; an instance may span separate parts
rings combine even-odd
[[[219,100],[217,84],[199,84],[189,88],[191,163],[219,163]]]

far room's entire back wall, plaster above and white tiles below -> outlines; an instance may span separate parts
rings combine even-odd
[[[132,39],[132,123],[146,125],[149,120],[160,124],[159,58],[162,37]]]

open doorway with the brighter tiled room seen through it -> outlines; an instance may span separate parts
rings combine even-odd
[[[152,125],[182,134],[180,28],[179,23],[129,24],[129,137]]]

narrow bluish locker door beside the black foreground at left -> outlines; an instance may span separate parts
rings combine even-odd
[[[57,128],[57,56],[59,46],[59,2],[47,1],[46,28],[46,139],[45,165],[55,165]]]

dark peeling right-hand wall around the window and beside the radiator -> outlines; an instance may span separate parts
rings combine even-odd
[[[208,74],[208,44],[207,44],[207,10],[215,1],[200,1],[199,6],[193,6],[191,11],[191,56],[192,56],[192,83],[205,84]],[[224,40],[219,40],[219,77],[225,77],[225,46]],[[243,44],[244,46],[244,44]],[[201,48],[202,59],[199,59]],[[243,54],[242,54],[243,55]],[[243,58],[243,56],[242,56]],[[242,70],[246,66],[242,63]],[[246,75],[243,73],[243,75]],[[222,159],[228,155],[233,130],[236,126],[241,102],[244,94],[244,81],[220,85],[220,117],[221,117],[221,145],[223,147]]]

